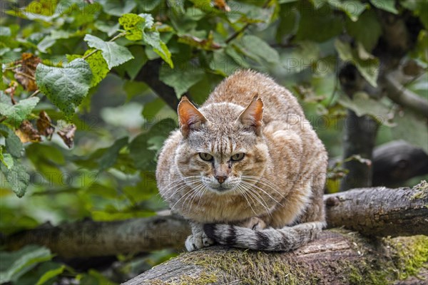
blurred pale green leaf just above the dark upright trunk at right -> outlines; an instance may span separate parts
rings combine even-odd
[[[358,116],[370,115],[377,122],[390,125],[388,122],[389,108],[378,100],[370,98],[367,93],[357,92],[353,98],[342,96],[339,103],[344,107],[353,110]]]

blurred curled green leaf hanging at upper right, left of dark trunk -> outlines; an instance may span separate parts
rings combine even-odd
[[[344,43],[339,39],[335,41],[335,47],[342,61],[351,61],[367,82],[377,87],[377,76],[379,75],[378,58],[374,58],[370,53],[367,53],[361,45],[357,46],[357,50],[352,49],[350,43]]]

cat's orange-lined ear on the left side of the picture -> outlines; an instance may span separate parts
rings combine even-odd
[[[180,131],[184,138],[188,137],[190,130],[197,130],[207,121],[202,113],[185,96],[178,103],[177,113]]]

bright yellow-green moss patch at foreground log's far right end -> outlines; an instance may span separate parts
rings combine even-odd
[[[394,262],[399,279],[417,276],[419,269],[428,268],[428,237],[396,237],[389,239],[389,246],[394,252]]]

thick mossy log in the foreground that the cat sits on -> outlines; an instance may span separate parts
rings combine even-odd
[[[181,254],[124,285],[426,284],[422,279],[428,278],[427,248],[425,236],[379,240],[355,232],[326,231],[294,252],[215,246]]]

